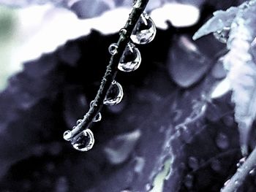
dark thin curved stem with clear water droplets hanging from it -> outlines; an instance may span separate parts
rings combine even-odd
[[[69,132],[69,134],[67,135],[68,139],[72,139],[72,137],[75,137],[77,134],[83,131],[83,127],[89,128],[92,120],[101,110],[103,101],[105,99],[106,94],[108,93],[108,89],[110,88],[111,82],[113,82],[113,80],[116,77],[116,72],[118,70],[117,67],[121,59],[121,56],[123,55],[125,47],[130,41],[132,30],[133,28],[135,28],[135,25],[138,22],[140,15],[143,13],[144,9],[146,8],[146,5],[148,4],[148,1],[149,0],[135,1],[132,12],[129,14],[127,23],[124,26],[124,28],[122,28],[120,31],[120,37],[117,42],[118,47],[116,49],[117,53],[112,55],[110,58],[105,75],[102,78],[101,85],[97,92],[97,96],[94,99],[94,104],[86,113],[83,120],[78,124],[78,126],[73,128],[72,131]]]

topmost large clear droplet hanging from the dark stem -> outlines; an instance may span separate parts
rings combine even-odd
[[[154,21],[146,13],[143,13],[132,31],[131,39],[136,44],[144,45],[151,42],[156,33],[157,28]]]

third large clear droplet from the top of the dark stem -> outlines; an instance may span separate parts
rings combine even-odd
[[[121,102],[121,99],[123,99],[123,96],[124,96],[123,88],[121,87],[120,83],[114,80],[108,90],[107,96],[105,97],[103,104],[106,104],[106,105],[118,104]]]

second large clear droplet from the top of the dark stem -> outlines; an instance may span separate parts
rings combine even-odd
[[[118,69],[122,72],[133,72],[140,66],[141,55],[134,44],[129,43],[121,56]]]

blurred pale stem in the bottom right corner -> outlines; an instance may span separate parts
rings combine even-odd
[[[256,166],[256,148],[252,151],[249,157],[244,161],[244,164],[238,168],[236,174],[231,177],[227,185],[222,188],[222,192],[234,192],[244,183],[244,180],[249,175],[249,172],[255,169]]]

